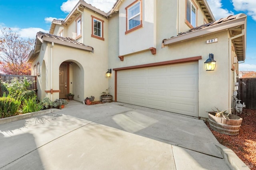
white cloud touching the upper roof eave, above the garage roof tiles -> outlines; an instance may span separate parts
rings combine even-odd
[[[234,15],[234,12],[222,8],[221,0],[207,0],[215,20]]]

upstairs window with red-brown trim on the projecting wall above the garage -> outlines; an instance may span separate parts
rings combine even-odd
[[[125,8],[126,10],[126,32],[130,33],[142,27],[142,1],[136,0]]]

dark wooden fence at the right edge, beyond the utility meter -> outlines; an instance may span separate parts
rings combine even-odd
[[[239,78],[238,99],[247,109],[256,109],[256,78]]]

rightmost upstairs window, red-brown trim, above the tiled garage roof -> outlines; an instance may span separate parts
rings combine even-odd
[[[191,28],[196,27],[196,7],[190,0],[187,0],[186,21]]]

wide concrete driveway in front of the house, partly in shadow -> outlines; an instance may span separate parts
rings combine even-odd
[[[122,103],[83,105],[0,125],[0,169],[248,169],[202,120]]]

